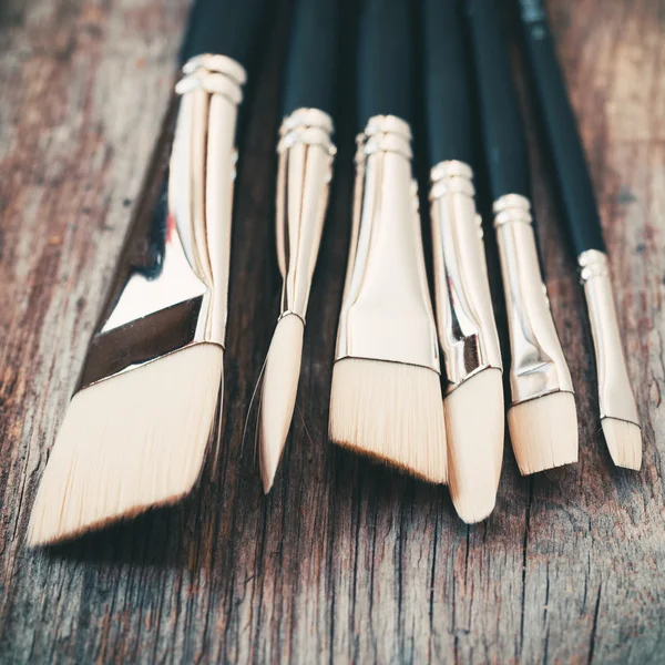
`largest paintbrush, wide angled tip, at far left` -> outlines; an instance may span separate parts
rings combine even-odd
[[[237,109],[265,4],[194,7],[167,193],[157,151],[41,480],[32,545],[173,503],[201,474],[221,408]]]

